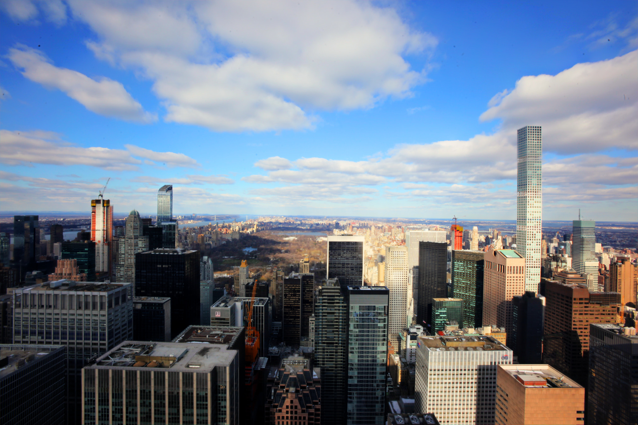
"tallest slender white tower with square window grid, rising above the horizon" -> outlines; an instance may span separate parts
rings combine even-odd
[[[517,143],[516,250],[525,259],[524,290],[538,292],[543,217],[540,126],[520,128]]]

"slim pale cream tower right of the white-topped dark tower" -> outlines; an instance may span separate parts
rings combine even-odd
[[[390,291],[388,338],[394,352],[399,352],[399,335],[408,325],[408,249],[406,247],[385,247],[385,286]]]

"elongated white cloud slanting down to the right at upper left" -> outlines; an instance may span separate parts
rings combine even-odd
[[[156,120],[119,82],[106,77],[93,80],[77,71],[57,68],[42,52],[24,46],[9,49],[8,57],[29,80],[63,91],[91,112],[132,122]]]

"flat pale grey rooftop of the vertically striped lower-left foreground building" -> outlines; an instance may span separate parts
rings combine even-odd
[[[235,356],[237,350],[229,350],[223,344],[125,341],[85,368],[203,372],[215,366],[228,366]]]

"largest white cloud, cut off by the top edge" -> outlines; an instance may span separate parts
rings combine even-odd
[[[214,131],[308,129],[320,110],[370,108],[425,81],[403,55],[437,40],[353,1],[70,3],[97,57],[139,69],[165,120]]]

